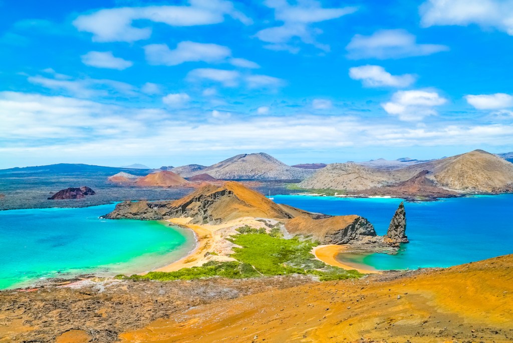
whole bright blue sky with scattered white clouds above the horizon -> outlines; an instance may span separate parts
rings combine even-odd
[[[513,150],[513,1],[0,0],[0,168]]]

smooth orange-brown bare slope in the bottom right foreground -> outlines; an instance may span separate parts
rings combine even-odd
[[[513,339],[513,255],[379,278],[223,300],[120,337],[123,342],[161,343]]]

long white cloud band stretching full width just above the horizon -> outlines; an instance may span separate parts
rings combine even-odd
[[[432,104],[432,101],[425,101]],[[162,157],[155,146],[166,146],[173,156],[194,151],[206,155],[214,151],[312,151],[336,153],[340,147],[382,146],[504,146],[513,144],[513,124],[471,122],[428,122],[423,127],[376,117],[297,115],[235,116],[222,121],[224,111],[195,112],[186,119],[175,110],[131,108],[105,105],[67,97],[0,92],[0,164],[33,161],[45,156],[47,162],[63,156],[80,156],[81,161],[97,161],[137,156]],[[198,118],[210,118],[199,122]],[[258,127],[258,130],[255,130]],[[169,132],[173,132],[172,135]],[[56,140],[55,137],[60,139]],[[198,138],[201,139],[198,139]],[[42,139],[47,139],[42,141]],[[105,149],[108,146],[109,149]],[[53,162],[51,162],[53,163]]]

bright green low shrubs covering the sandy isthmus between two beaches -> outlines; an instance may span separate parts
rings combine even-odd
[[[361,277],[357,271],[346,271],[329,266],[317,260],[310,253],[319,242],[296,236],[284,239],[279,225],[266,233],[264,228],[248,225],[237,229],[240,233],[229,240],[241,247],[234,247],[233,257],[236,261],[210,261],[202,266],[183,268],[176,272],[149,272],[146,275],[116,278],[133,280],[192,280],[207,277],[250,278],[275,275],[303,274],[315,275],[321,281],[341,280]]]

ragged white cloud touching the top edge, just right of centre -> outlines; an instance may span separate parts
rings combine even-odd
[[[319,23],[353,13],[356,7],[322,8],[315,0],[300,1],[294,6],[287,0],[266,0],[264,4],[274,9],[275,20],[283,22],[281,26],[263,29],[255,36],[263,42],[270,43],[264,46],[272,50],[288,50],[297,53],[299,48],[291,45],[293,37],[298,37],[303,43],[311,44],[319,49],[328,51],[329,46],[318,43],[315,36],[320,30],[310,27]]]

